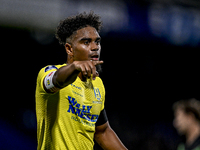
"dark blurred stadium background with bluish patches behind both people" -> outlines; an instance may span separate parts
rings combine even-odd
[[[172,104],[200,99],[198,0],[0,0],[0,149],[36,149],[37,73],[66,62],[59,21],[90,10],[104,25],[100,76],[112,128],[130,150],[175,150]]]

